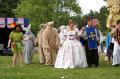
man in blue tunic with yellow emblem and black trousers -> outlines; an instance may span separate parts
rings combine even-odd
[[[98,67],[99,65],[98,37],[99,36],[92,23],[93,23],[92,19],[88,18],[87,25],[81,29],[79,35],[84,38],[84,45],[85,45],[85,52],[86,52],[88,66],[91,67],[92,64],[95,64],[95,66]]]

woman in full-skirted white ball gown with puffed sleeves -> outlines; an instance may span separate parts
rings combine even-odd
[[[70,21],[68,28],[64,30],[66,40],[59,48],[55,68],[87,67],[85,50],[76,38],[78,32]]]

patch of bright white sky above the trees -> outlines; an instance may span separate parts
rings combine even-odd
[[[103,0],[78,0],[78,2],[82,8],[83,14],[89,13],[90,10],[99,11],[102,6],[107,5]]]

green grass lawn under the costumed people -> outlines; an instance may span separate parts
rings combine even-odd
[[[64,78],[62,78],[64,77]],[[112,67],[100,56],[100,67],[55,69],[39,64],[35,54],[33,63],[12,68],[12,56],[0,56],[0,79],[120,79],[120,67]]]

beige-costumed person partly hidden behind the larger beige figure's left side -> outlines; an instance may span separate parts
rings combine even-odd
[[[43,31],[46,28],[45,24],[40,25],[41,30],[37,34],[36,42],[38,43],[38,54],[39,54],[39,60],[40,63],[43,64],[45,63],[45,55],[43,53]]]

